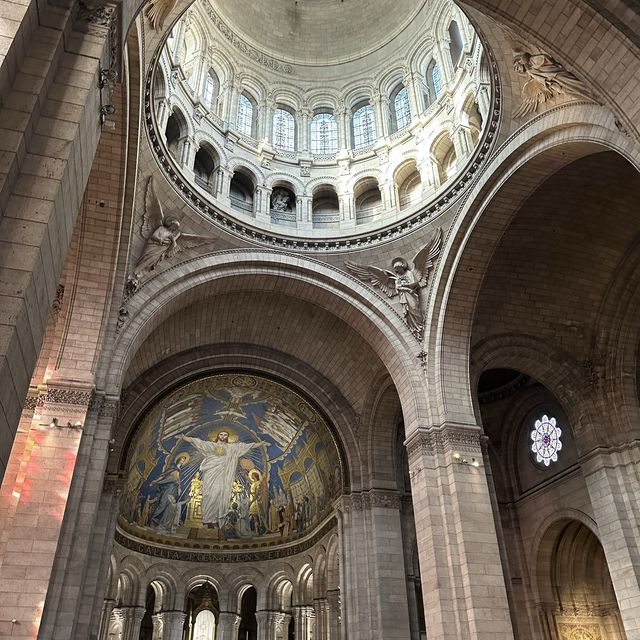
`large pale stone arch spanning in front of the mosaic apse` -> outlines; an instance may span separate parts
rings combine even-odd
[[[421,421],[426,409],[419,399],[423,385],[415,359],[417,343],[389,304],[355,278],[321,262],[276,252],[232,250],[218,252],[171,269],[172,278],[151,278],[128,306],[127,321],[113,351],[112,366],[100,380],[107,393],[119,394],[125,372],[145,338],[178,308],[196,298],[224,290],[263,289],[266,283],[279,292],[307,300],[344,320],[361,335],[370,335],[370,347],[385,364],[399,390],[407,425]],[[305,274],[304,280],[300,275]],[[422,424],[426,419],[422,421]]]

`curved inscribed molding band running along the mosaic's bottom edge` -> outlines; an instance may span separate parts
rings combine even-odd
[[[130,537],[119,527],[116,528],[115,541],[126,549],[142,553],[143,555],[163,558],[165,560],[184,560],[186,562],[210,562],[210,563],[238,563],[238,562],[260,562],[263,560],[279,560],[289,556],[298,555],[307,551],[317,544],[327,534],[336,527],[335,517],[331,517],[316,533],[305,540],[300,540],[294,544],[279,547],[276,549],[256,549],[256,543],[246,545],[246,549],[225,549],[218,545],[206,543],[202,544],[202,549],[180,549],[178,547],[158,546],[140,539]]]

